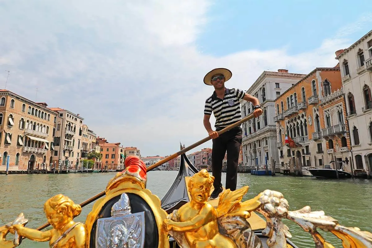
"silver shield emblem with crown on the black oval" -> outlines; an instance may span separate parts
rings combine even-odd
[[[143,248],[145,244],[145,213],[131,213],[129,198],[121,194],[113,204],[110,218],[97,220],[97,248]]]

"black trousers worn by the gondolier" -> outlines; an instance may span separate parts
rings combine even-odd
[[[216,131],[222,128],[216,128]],[[240,127],[222,133],[218,138],[212,139],[212,175],[215,189],[222,187],[221,170],[222,160],[227,152],[226,189],[236,190],[238,160],[243,132]]]

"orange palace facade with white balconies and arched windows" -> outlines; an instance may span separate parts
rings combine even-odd
[[[349,157],[341,86],[338,65],[315,68],[275,100],[281,169],[297,174],[302,166],[323,168]],[[293,145],[285,144],[286,137]]]

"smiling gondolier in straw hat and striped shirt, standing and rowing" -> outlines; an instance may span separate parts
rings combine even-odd
[[[242,141],[242,130],[238,126],[218,136],[218,131],[224,129],[241,120],[240,100],[244,99],[253,103],[253,115],[258,117],[262,115],[262,109],[259,105],[259,100],[243,90],[237,88],[225,88],[225,82],[232,76],[230,70],[225,68],[216,68],[207,73],[204,77],[206,85],[212,85],[214,92],[212,96],[205,101],[204,107],[204,127],[212,138],[212,175],[215,177],[213,186],[214,191],[211,198],[215,199],[222,192],[221,170],[222,160],[227,152],[227,170],[226,170],[226,189],[231,191],[236,189],[238,160],[240,146]],[[209,118],[214,114],[216,118],[215,128],[213,131]]]

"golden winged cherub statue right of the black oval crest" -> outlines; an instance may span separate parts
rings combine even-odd
[[[188,183],[190,202],[164,220],[164,229],[183,248],[239,248],[246,247],[248,240],[254,247],[262,247],[246,220],[249,212],[260,206],[257,197],[241,203],[248,186],[225,190],[215,209],[207,202],[213,181],[205,169],[193,175]]]

